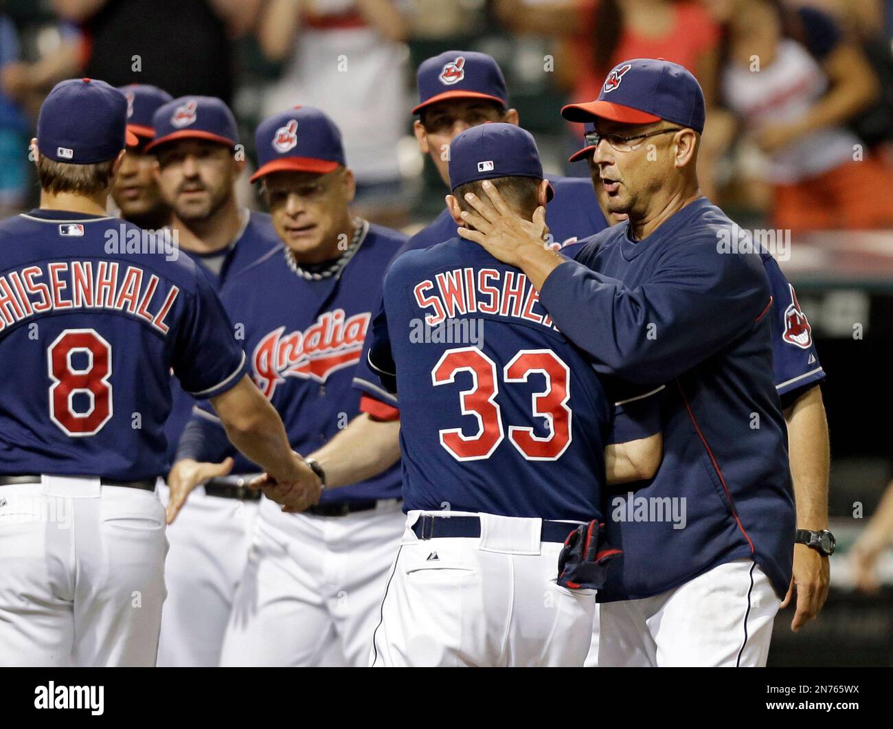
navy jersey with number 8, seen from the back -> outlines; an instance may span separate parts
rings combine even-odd
[[[0,473],[163,473],[171,368],[203,398],[241,379],[245,355],[204,273],[160,246],[125,253],[124,239],[154,241],[62,211],[0,223]]]

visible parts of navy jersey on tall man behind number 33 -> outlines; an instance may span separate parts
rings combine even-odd
[[[587,238],[599,230],[605,230],[607,222],[598,208],[596,194],[588,178],[549,177],[548,180],[555,190],[555,197],[546,207],[546,223],[556,245],[571,245],[578,238]],[[421,250],[453,239],[457,235],[456,230],[458,226],[452,215],[444,209],[434,222],[409,239],[397,256],[408,250]],[[369,369],[365,355],[356,368],[354,386],[373,398],[394,405],[394,399],[379,387],[378,378]]]

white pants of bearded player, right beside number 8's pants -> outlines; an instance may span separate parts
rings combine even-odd
[[[166,504],[166,485],[161,492]],[[208,496],[199,486],[168,527],[168,598],[158,666],[220,665],[223,634],[248,561],[259,504]]]

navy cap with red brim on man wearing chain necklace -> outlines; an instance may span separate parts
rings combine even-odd
[[[251,181],[271,172],[332,172],[346,166],[341,132],[313,106],[295,106],[264,119],[255,132],[257,172]]]

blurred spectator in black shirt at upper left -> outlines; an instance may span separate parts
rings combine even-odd
[[[154,84],[173,96],[230,104],[230,38],[250,30],[262,0],[53,0],[85,33],[84,75],[113,86]]]

